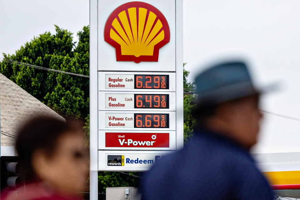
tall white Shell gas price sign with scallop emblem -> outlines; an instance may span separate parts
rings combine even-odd
[[[95,171],[145,171],[183,147],[182,4],[90,0],[91,197]]]

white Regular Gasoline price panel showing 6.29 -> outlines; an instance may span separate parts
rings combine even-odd
[[[98,72],[102,91],[175,92],[176,73]]]

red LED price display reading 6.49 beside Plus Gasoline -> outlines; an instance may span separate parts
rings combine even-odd
[[[134,94],[134,108],[169,108],[169,95]]]

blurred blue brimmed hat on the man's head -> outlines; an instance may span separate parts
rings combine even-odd
[[[264,91],[255,88],[247,65],[243,61],[229,61],[211,66],[195,79],[198,107],[210,107],[230,100]]]

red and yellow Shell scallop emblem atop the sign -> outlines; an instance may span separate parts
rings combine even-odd
[[[159,49],[170,41],[170,28],[154,6],[128,2],[108,17],[104,40],[116,49],[117,61],[157,62]]]

